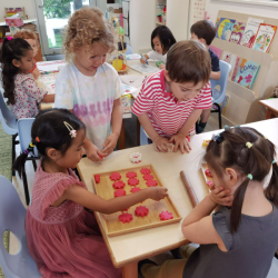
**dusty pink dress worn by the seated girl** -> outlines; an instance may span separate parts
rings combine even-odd
[[[51,207],[71,185],[86,188],[68,171],[47,173],[38,167],[26,217],[29,252],[44,278],[119,278],[95,215],[70,200]]]

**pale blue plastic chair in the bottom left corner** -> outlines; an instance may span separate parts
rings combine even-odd
[[[13,185],[0,176],[0,235],[10,230],[19,241],[19,251],[10,255],[0,240],[0,265],[7,278],[39,278],[41,277],[36,262],[30,257],[27,247],[23,207]]]

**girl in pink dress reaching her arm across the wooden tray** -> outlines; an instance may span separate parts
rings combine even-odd
[[[113,214],[148,198],[160,200],[166,188],[105,200],[87,190],[70,168],[83,155],[86,126],[66,109],[43,110],[36,118],[29,148],[16,160],[21,176],[33,146],[42,156],[26,217],[29,254],[43,277],[120,278],[93,214]],[[86,209],[87,208],[87,209]],[[89,209],[89,210],[88,210]]]

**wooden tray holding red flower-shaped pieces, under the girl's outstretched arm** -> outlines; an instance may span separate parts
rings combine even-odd
[[[150,175],[152,175],[153,179],[158,181],[158,186],[159,187],[163,186],[152,165],[145,165],[140,167],[137,166],[133,168],[117,170],[117,172],[121,175],[121,180],[126,183],[123,189],[126,190],[127,195],[131,193],[130,189],[132,188],[128,185],[128,178],[126,177],[126,173],[129,171],[137,172],[137,179],[139,179],[139,185],[137,187],[140,187],[141,189],[147,188],[146,181],[143,180],[143,175],[140,172],[142,168],[149,168],[151,170]],[[115,198],[113,192],[116,189],[113,189],[112,187],[113,181],[109,178],[112,172],[116,172],[116,171],[98,173],[100,175],[99,183],[96,183],[95,175],[92,178],[96,193],[106,200]],[[136,216],[135,210],[138,206],[147,207],[149,209],[148,216],[146,217]],[[165,210],[172,212],[173,218],[170,220],[161,221],[159,218],[159,214]],[[149,228],[169,225],[173,222],[179,222],[181,220],[181,217],[176,206],[171,201],[170,197],[167,197],[160,201],[147,199],[142,203],[137,203],[130,207],[129,210],[125,212],[129,212],[133,216],[133,220],[131,220],[129,224],[122,224],[119,220],[119,216],[122,214],[121,211],[115,212],[112,215],[101,215],[103,219],[105,228],[106,228],[106,234],[108,237],[115,237],[119,235],[129,234],[132,231],[149,229]]]

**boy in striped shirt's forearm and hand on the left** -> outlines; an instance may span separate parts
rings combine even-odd
[[[137,116],[137,117],[138,117],[140,123],[142,125],[142,128],[145,129],[145,131],[148,133],[150,139],[156,145],[157,149],[159,151],[167,152],[168,149],[171,148],[171,145],[169,143],[169,141],[166,138],[159,136],[159,133],[152,127],[152,123],[150,121],[148,113],[142,113],[142,115]]]

